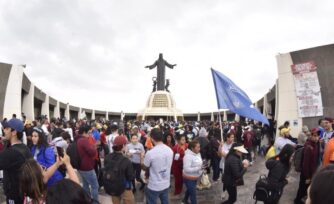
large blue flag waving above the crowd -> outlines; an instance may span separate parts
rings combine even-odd
[[[268,119],[252,104],[247,94],[224,74],[211,68],[218,109],[229,109],[243,117],[269,125]]]

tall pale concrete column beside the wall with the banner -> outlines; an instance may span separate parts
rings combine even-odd
[[[284,121],[290,122],[291,136],[298,137],[301,130],[302,118],[298,117],[297,95],[291,65],[293,64],[290,53],[279,54],[276,56],[278,71],[278,101],[279,112],[276,114],[277,127],[282,125]]]

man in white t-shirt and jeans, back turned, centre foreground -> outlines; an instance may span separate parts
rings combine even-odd
[[[150,135],[155,146],[146,153],[144,161],[141,160],[143,169],[149,170],[148,185],[145,190],[146,201],[147,204],[155,204],[159,197],[161,204],[168,204],[173,151],[163,144],[160,129],[152,129]]]

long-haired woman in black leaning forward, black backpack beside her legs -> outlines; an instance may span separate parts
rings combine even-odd
[[[266,167],[269,170],[268,182],[270,184],[270,190],[272,191],[272,197],[270,202],[266,204],[278,203],[281,198],[283,188],[287,184],[286,176],[291,168],[291,156],[293,155],[295,148],[286,144],[280,153],[266,161]]]

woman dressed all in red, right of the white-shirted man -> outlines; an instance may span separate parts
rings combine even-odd
[[[175,180],[175,192],[174,195],[180,195],[182,192],[183,179],[182,179],[182,170],[183,170],[183,157],[187,149],[186,136],[178,135],[177,144],[172,148],[174,157],[172,164],[172,173]]]

